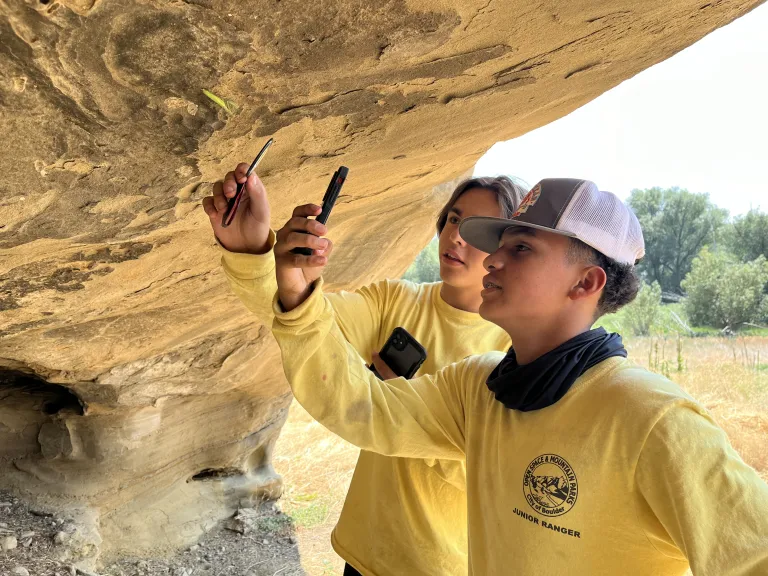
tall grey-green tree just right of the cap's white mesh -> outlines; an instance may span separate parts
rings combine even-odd
[[[633,190],[629,205],[645,237],[646,256],[638,269],[649,283],[681,293],[681,282],[701,249],[715,242],[716,232],[728,218],[707,194],[679,188]]]

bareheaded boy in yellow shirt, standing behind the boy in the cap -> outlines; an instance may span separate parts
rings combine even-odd
[[[330,253],[316,206],[301,206],[277,232],[270,230],[266,190],[254,175],[236,220],[221,227],[226,198],[245,180],[246,164],[214,186],[205,200],[214,232],[225,249],[222,266],[230,285],[259,319],[272,325],[277,290],[275,257],[293,257],[290,249],[315,249],[305,261],[322,265]],[[507,178],[475,178],[460,184],[437,219],[442,282],[414,284],[386,280],[354,292],[328,295],[337,326],[361,362],[374,362],[380,374],[394,377],[376,352],[394,328],[402,326],[426,349],[418,374],[430,374],[472,354],[506,351],[509,336],[483,320],[480,306],[482,266],[487,254],[467,245],[459,224],[469,216],[509,217],[525,190]],[[333,224],[331,218],[330,224]],[[275,245],[277,238],[277,246]],[[282,277],[292,282],[290,277]],[[300,282],[306,285],[302,278]],[[464,575],[467,573],[467,502],[463,459],[391,458],[360,454],[339,522],[332,534],[336,552],[348,563],[345,574]]]

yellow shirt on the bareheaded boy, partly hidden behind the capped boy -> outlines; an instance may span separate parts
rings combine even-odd
[[[274,253],[225,251],[222,264],[240,300],[271,326],[277,290]],[[510,346],[509,336],[497,326],[446,304],[440,283],[384,281],[327,297],[340,333],[361,365],[357,355],[370,364],[371,353],[381,349],[397,326],[427,349],[419,374]],[[364,576],[465,575],[466,508],[463,457],[424,460],[363,451],[331,542]]]

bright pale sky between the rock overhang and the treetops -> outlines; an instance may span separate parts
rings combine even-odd
[[[679,186],[708,192],[732,215],[768,210],[768,4],[568,116],[495,144],[475,174],[531,185],[587,178],[621,198]]]

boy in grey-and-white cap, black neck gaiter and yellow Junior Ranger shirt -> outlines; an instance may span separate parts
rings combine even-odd
[[[377,380],[320,270],[278,258],[278,278],[301,278],[278,282],[273,324],[299,402],[366,450],[466,458],[470,574],[768,574],[768,486],[701,405],[591,329],[636,295],[634,214],[592,182],[548,179],[511,220],[460,232],[492,252],[480,314],[514,348]]]

